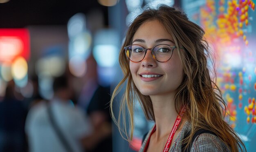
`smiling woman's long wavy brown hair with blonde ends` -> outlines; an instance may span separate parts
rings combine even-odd
[[[191,143],[193,134],[199,128],[203,128],[214,132],[232,152],[246,151],[243,141],[224,120],[227,106],[220,89],[214,82],[216,78],[214,58],[207,41],[204,40],[204,30],[191,22],[182,11],[165,5],[161,5],[157,9],[147,8],[138,15],[129,26],[121,47],[119,63],[124,77],[113,91],[110,108],[112,118],[119,127],[122,137],[127,141],[132,140],[135,98],[139,100],[146,119],[155,121],[152,101],[149,96],[142,95],[136,88],[130,73],[129,59],[124,53],[124,46],[132,43],[133,35],[139,26],[149,20],[159,21],[173,36],[182,62],[184,76],[175,95],[175,110],[179,113],[182,106],[186,106],[187,109],[184,117],[191,123],[192,128],[189,137],[184,139],[186,146]],[[209,63],[212,63],[213,70],[209,70]],[[124,86],[125,91],[120,103],[119,116],[116,119],[113,102]],[[127,119],[128,124],[126,123]]]

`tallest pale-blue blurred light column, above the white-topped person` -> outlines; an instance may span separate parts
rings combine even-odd
[[[68,58],[70,72],[76,77],[85,75],[85,60],[91,53],[92,35],[86,29],[86,18],[83,13],[77,13],[67,24],[70,37],[68,46]]]

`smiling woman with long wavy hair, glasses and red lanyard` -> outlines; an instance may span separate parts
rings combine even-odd
[[[146,9],[130,25],[119,55],[124,78],[111,99],[112,108],[127,81],[118,121],[111,112],[128,141],[133,133],[135,97],[146,118],[155,121],[140,152],[245,150],[224,121],[226,105],[210,77],[210,51],[203,36],[203,29],[186,14],[167,6]],[[120,116],[126,128],[126,113],[129,130],[122,130]]]

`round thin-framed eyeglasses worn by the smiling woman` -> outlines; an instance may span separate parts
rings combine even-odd
[[[154,48],[144,48],[137,44],[124,47],[126,56],[132,62],[141,62],[146,56],[147,50],[151,50],[153,58],[158,62],[167,62],[171,59],[174,48],[177,47],[168,44],[159,44]]]

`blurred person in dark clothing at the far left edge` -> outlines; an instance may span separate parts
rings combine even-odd
[[[27,110],[16,98],[15,83],[8,82],[0,102],[0,152],[25,152],[25,119]]]

